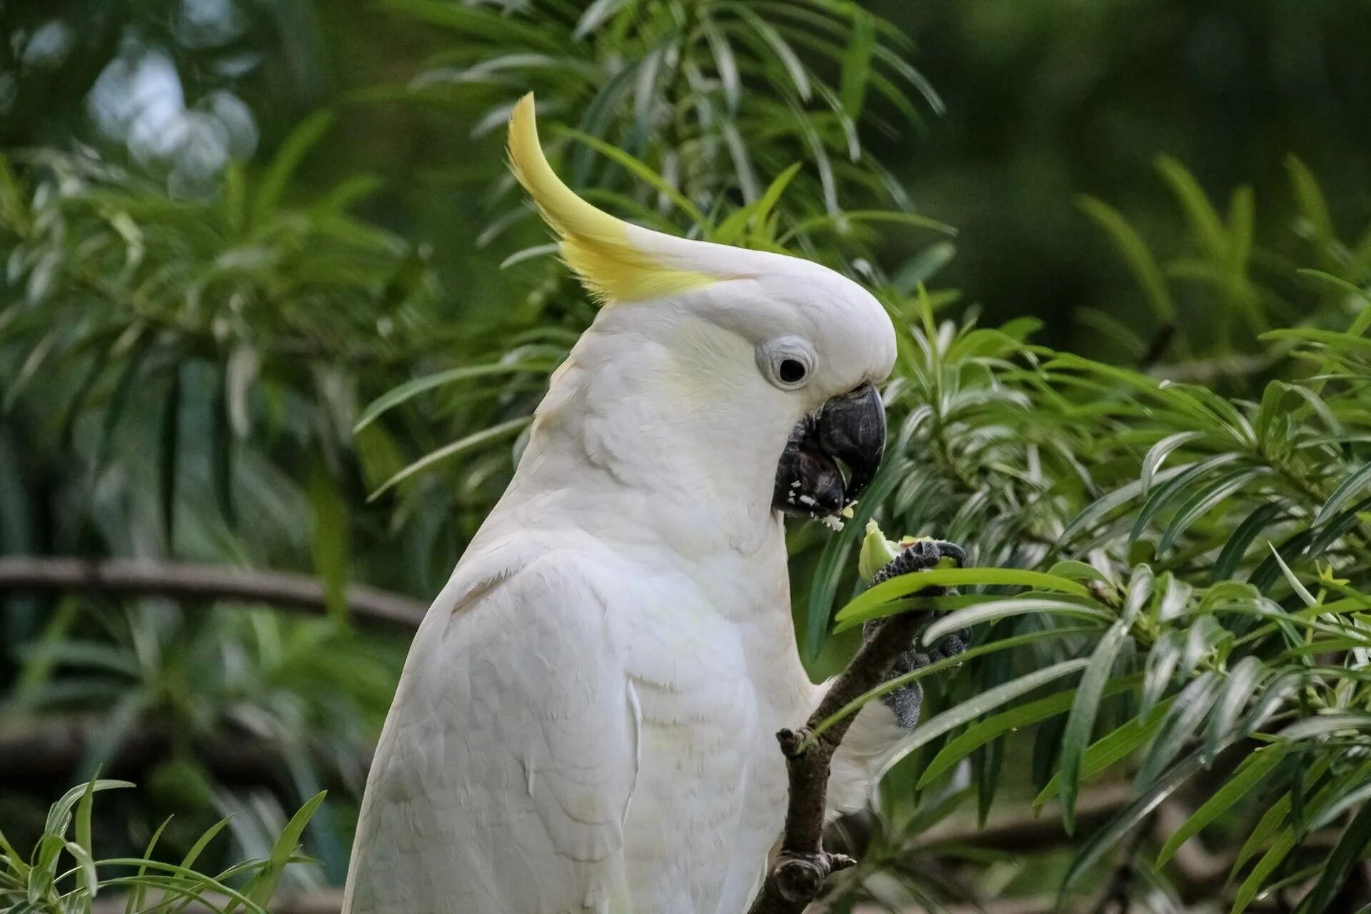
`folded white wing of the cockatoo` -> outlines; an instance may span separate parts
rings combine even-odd
[[[606,602],[540,558],[415,637],[367,781],[344,914],[628,910],[638,697]]]

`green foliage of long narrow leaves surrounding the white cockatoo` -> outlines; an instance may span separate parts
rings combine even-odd
[[[1160,326],[1143,336],[1142,321],[1094,315],[1132,359],[1102,363],[1038,344],[1031,318],[953,317],[957,293],[934,288],[950,230],[872,155],[941,103],[899,32],[856,4],[384,5],[440,47],[406,85],[362,95],[470,122],[489,151],[463,178],[488,188],[470,262],[507,254],[499,274],[454,282],[422,245],[361,218],[369,178],[299,192],[328,115],[203,196],[51,149],[0,171],[0,485],[21,506],[0,512],[5,548],[306,567],[333,610],[302,621],[70,599],[41,614],[15,600],[0,625],[25,647],[5,714],[100,713],[88,767],[149,718],[196,737],[254,732],[282,747],[291,806],[330,778],[355,799],[402,645],[351,629],[343,585],[436,589],[594,317],[491,140],[532,88],[557,166],[599,204],[820,260],[895,321],[886,463],[845,532],[790,533],[801,650],[827,674],[861,621],[898,611],[936,613],[928,641],[972,626],[975,645],[883,687],[919,678],[939,693],[887,773],[835,910],[936,907],[968,885],[1083,898],[1106,888],[1116,854],[1179,904],[1190,839],[1222,851],[1234,913],[1275,893],[1313,914],[1345,891],[1371,837],[1371,230],[1339,234],[1302,163],[1289,162],[1300,215],[1279,249],[1260,241],[1252,189],[1217,204],[1176,159],[1156,162],[1180,226],[1163,249],[1080,199]],[[882,233],[927,247],[886,262]],[[468,308],[466,286],[499,306]],[[975,566],[862,591],[868,519],[958,541]],[[931,584],[960,593],[920,596]],[[195,740],[186,752],[210,781]],[[1127,792],[1104,825],[1086,815],[1101,784]],[[182,836],[182,870],[107,878],[92,861],[92,874],[80,822],[95,789],[64,800],[74,841],[56,821],[38,856],[5,847],[3,903],[85,910],[97,885],[138,880],[218,891],[188,870],[222,824]],[[237,802],[219,784],[210,795]],[[1047,803],[1069,837],[1046,866],[927,840]],[[347,811],[329,811],[315,835],[337,878]],[[258,873],[292,859],[293,821],[287,837]],[[270,885],[240,891],[258,910]]]

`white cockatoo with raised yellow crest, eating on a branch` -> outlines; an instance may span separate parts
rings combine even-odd
[[[587,203],[543,156],[532,96],[509,158],[603,307],[418,629],[343,911],[742,914],[783,828],[775,733],[823,695],[781,515],[836,515],[871,481],[894,328],[827,267]],[[912,718],[908,695],[858,714],[835,813]]]

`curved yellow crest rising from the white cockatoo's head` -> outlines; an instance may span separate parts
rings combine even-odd
[[[562,240],[562,258],[600,303],[644,301],[717,281],[665,264],[629,237],[646,240],[655,233],[611,217],[562,184],[537,140],[532,92],[510,114],[509,156],[510,171]]]

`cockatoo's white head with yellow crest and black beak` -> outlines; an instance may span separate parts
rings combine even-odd
[[[886,310],[817,263],[680,238],[617,219],[572,192],[543,156],[533,97],[514,107],[510,166],[605,307],[594,333],[650,382],[686,436],[725,460],[775,459],[771,506],[834,518],[871,482],[886,445],[876,385],[895,360]],[[622,388],[644,373],[621,369]],[[707,417],[709,421],[706,421]],[[768,473],[771,469],[768,467]]]

